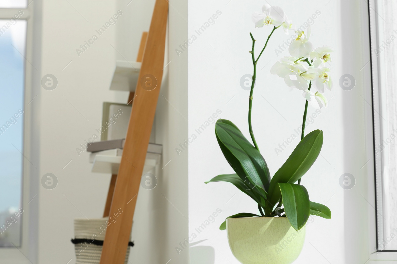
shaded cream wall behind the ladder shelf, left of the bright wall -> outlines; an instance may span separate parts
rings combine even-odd
[[[168,42],[175,46],[185,39],[187,32],[187,22],[181,18],[181,15],[187,17],[187,3],[172,2],[178,11],[170,7],[172,30]],[[73,219],[102,217],[110,182],[110,175],[91,173],[88,153],[79,156],[76,148],[100,127],[104,101],[127,102],[127,92],[109,90],[115,60],[136,60],[141,34],[150,25],[154,0],[43,0],[42,6],[40,79],[45,74],[53,74],[58,79],[58,87],[52,91],[41,88],[39,97],[32,102],[39,109],[37,119],[40,121],[38,178],[41,180],[42,175],[53,173],[58,178],[58,186],[46,190],[37,183],[38,263],[67,263],[69,260],[74,263],[75,252],[70,242]],[[116,25],[77,55],[76,49],[119,9],[123,14]],[[171,54],[170,59],[174,58]],[[173,60],[168,65],[171,74],[164,74],[159,99],[160,118],[156,118],[156,141],[164,144],[164,160],[155,172],[158,186],[151,192],[141,188],[138,196],[132,232],[135,241],[131,249],[132,263],[166,263],[175,255],[173,250],[168,250],[168,245],[187,234],[187,220],[181,219],[175,211],[178,208],[187,216],[187,157],[175,159],[163,172],[161,170],[173,158],[173,146],[179,142],[179,137],[187,135],[187,121],[179,115],[187,118],[186,66],[187,55]],[[186,258],[178,257],[170,263],[186,263]]]

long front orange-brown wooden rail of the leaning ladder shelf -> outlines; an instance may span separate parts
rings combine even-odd
[[[167,17],[168,1],[156,0],[109,215],[116,214],[118,209],[122,213],[106,230],[100,264],[123,264],[125,260],[160,93]]]

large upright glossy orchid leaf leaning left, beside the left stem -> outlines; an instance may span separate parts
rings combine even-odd
[[[229,120],[219,119],[215,124],[215,133],[222,152],[227,149],[224,156],[237,175],[244,181],[249,180],[256,188],[267,191],[270,186],[267,163],[237,126]]]

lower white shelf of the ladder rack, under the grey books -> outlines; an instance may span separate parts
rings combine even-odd
[[[118,174],[122,153],[123,150],[120,148],[91,153],[90,162],[93,163],[91,171]],[[161,154],[147,152],[143,174],[148,173],[156,167],[160,161],[160,157]]]

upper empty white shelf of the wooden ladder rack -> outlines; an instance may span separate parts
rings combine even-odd
[[[134,92],[141,65],[142,63],[136,61],[116,61],[110,89]]]

